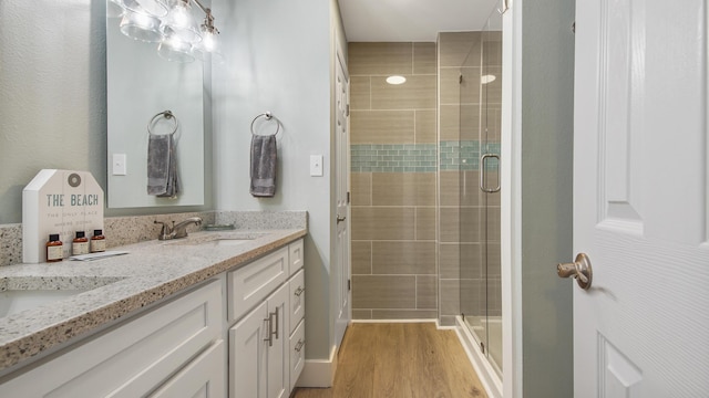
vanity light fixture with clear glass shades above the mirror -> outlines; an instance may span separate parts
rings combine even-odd
[[[222,62],[222,53],[214,27],[212,9],[198,0],[111,0],[123,10],[121,33],[126,36],[158,43],[157,53],[169,61]],[[192,3],[204,12],[204,22],[197,25]]]

